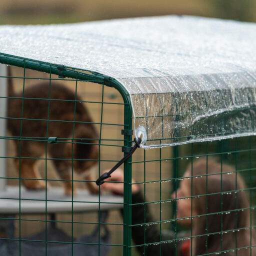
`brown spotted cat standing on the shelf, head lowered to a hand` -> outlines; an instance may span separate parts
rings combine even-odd
[[[8,76],[11,76],[10,67],[8,67]],[[48,100],[49,93],[50,99],[53,100]],[[51,81],[49,87],[47,80],[24,89],[22,106],[23,93],[22,91],[14,92],[12,79],[8,78],[8,96],[21,97],[8,98],[7,126],[12,136],[19,138],[21,135],[22,137],[22,139],[14,139],[15,157],[17,157],[14,160],[17,170],[20,169],[20,177],[24,186],[27,189],[45,189],[45,181],[40,180],[41,176],[35,167],[35,162],[36,158],[45,153],[45,143],[47,143],[45,138],[47,139],[47,137],[69,138],[68,140],[60,139],[65,143],[47,143],[46,145],[47,154],[53,158],[53,164],[60,179],[69,180],[62,182],[66,195],[72,193],[71,158],[73,158],[74,171],[83,174],[85,179],[91,180],[91,173],[88,169],[97,163],[98,134],[91,123],[92,119],[85,105],[78,103],[81,101],[79,95],[76,95],[78,102],[75,104],[73,101],[75,93],[72,90],[55,81]],[[70,142],[73,135],[74,114],[76,122],[72,152],[72,143]],[[19,156],[21,157],[20,162]],[[98,191],[94,182],[86,183],[92,193]]]

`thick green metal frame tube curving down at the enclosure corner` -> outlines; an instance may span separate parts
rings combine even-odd
[[[59,75],[57,64],[37,61],[28,58],[17,57],[9,54],[0,53],[0,63],[33,69],[46,73]],[[61,76],[69,77],[82,81],[89,81],[104,84],[104,75],[90,70],[77,71],[69,66],[61,65]],[[106,84],[104,84],[106,85]],[[132,108],[130,96],[124,86],[113,77],[108,78],[108,85],[118,90],[124,103],[124,127],[132,129]],[[103,102],[102,102],[103,103]],[[132,136],[124,134],[124,146],[131,146]],[[124,152],[124,156],[127,153]],[[123,194],[123,255],[131,254],[131,157],[124,162],[124,194]]]

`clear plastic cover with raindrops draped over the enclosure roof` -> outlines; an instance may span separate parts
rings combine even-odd
[[[0,52],[96,71],[129,92],[144,148],[256,134],[256,24],[159,16],[0,26]]]

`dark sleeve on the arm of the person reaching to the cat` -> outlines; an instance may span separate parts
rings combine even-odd
[[[132,194],[132,203],[140,202],[144,202],[144,197],[142,193],[139,191],[135,194]],[[132,225],[138,224],[137,226],[132,227],[131,235],[136,245],[141,244],[141,246],[136,247],[141,255],[144,255],[144,252],[146,256],[188,255],[187,246],[183,246],[184,243],[181,243],[179,240],[175,241],[175,233],[173,231],[161,230],[160,232],[159,224],[143,225],[143,223],[154,221],[147,204],[133,205],[131,219]],[[176,238],[178,237],[180,237],[180,235]],[[159,243],[160,241],[163,242]],[[186,240],[186,245],[188,242],[189,241]],[[143,244],[145,243],[152,244],[144,246]]]

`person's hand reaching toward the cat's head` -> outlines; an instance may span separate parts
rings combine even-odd
[[[107,172],[105,170],[103,172]],[[100,188],[104,190],[109,190],[114,194],[123,194],[123,171],[122,169],[118,168],[113,173],[111,173],[111,177],[107,178],[105,181],[117,181],[117,182],[104,182],[100,185]],[[120,183],[119,183],[120,182]],[[132,180],[132,183],[134,180]],[[131,185],[131,193],[134,194],[139,191],[138,184]]]

